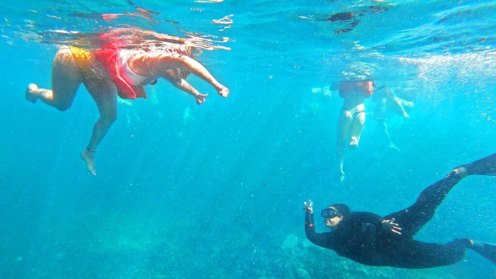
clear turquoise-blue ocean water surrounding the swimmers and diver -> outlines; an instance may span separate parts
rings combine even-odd
[[[494,264],[472,251],[427,270],[354,263],[310,244],[302,212],[312,199],[315,209],[346,203],[386,215],[452,167],[496,152],[494,1],[7,0],[0,7],[0,278],[495,277]],[[99,16],[136,7],[157,12],[156,22]],[[230,28],[212,22],[228,15]],[[98,118],[86,89],[66,112],[27,102],[24,90],[31,82],[50,87],[63,43],[54,30],[123,24],[213,36],[231,50],[197,59],[231,95],[223,99],[190,76],[209,94],[200,106],[164,80],[146,88],[148,99],[120,102],[93,177],[78,155]],[[370,72],[415,106],[409,119],[389,115],[399,152],[368,117],[339,183],[342,99],[325,88],[343,71]],[[372,111],[372,98],[365,105]],[[495,187],[493,177],[464,179],[416,239],[496,242]]]

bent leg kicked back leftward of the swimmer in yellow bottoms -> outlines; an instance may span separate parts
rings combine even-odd
[[[82,75],[76,60],[68,47],[62,47],[52,64],[52,90],[38,88],[31,83],[26,89],[25,98],[30,102],[42,102],[61,111],[67,110],[74,100],[82,82]]]

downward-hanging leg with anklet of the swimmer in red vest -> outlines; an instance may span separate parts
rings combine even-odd
[[[95,151],[98,145],[109,131],[112,123],[117,119],[117,89],[110,80],[87,81],[85,86],[95,100],[100,112],[100,118],[93,126],[90,141],[86,149],[81,151],[81,157],[86,162],[88,171],[96,175]]]

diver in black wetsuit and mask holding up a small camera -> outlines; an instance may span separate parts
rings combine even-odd
[[[325,218],[325,225],[332,227],[331,232],[315,232],[312,203],[305,202],[307,238],[340,256],[369,266],[412,269],[445,266],[460,261],[467,248],[496,263],[496,245],[493,244],[468,238],[445,245],[413,239],[433,217],[449,190],[473,174],[496,176],[496,153],[456,167],[422,191],[411,207],[384,217],[372,212],[350,212],[344,204],[329,206],[322,210],[321,216]]]

